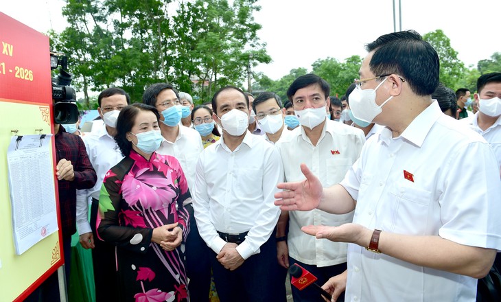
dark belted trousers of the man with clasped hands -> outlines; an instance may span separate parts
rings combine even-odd
[[[260,249],[259,254],[248,257],[236,270],[224,268],[211,251],[215,289],[221,302],[286,301],[285,283],[283,279],[277,282],[280,273],[275,236],[272,234]]]

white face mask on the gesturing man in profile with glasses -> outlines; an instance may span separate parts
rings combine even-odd
[[[380,88],[384,81],[386,81],[386,79],[387,78],[382,80],[382,82],[380,82],[375,89],[360,89],[360,87],[357,86],[356,89],[350,93],[349,108],[351,109],[351,114],[353,114],[354,117],[360,119],[361,121],[372,123],[373,119],[382,113],[382,106],[391,100],[393,96],[388,97],[388,99],[386,99],[381,106],[377,106],[375,102],[375,92],[378,88]]]

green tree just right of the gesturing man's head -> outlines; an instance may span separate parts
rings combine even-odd
[[[440,60],[440,81],[447,87],[454,89],[465,76],[465,64],[458,59],[458,52],[450,45],[450,39],[445,36],[442,30],[429,32],[423,36],[428,41]]]

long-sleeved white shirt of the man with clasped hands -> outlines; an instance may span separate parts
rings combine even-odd
[[[193,194],[200,236],[219,253],[226,242],[218,231],[248,231],[237,251],[244,259],[259,253],[280,215],[273,202],[277,184],[282,181],[279,152],[249,131],[233,152],[224,144],[224,136],[205,148],[196,166]]]

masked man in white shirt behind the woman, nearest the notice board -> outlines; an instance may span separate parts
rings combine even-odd
[[[97,174],[97,181],[92,189],[77,191],[77,227],[80,244],[84,248],[93,248],[93,267],[96,301],[115,301],[115,246],[101,240],[95,240],[95,220],[99,206],[99,195],[104,174],[119,163],[121,154],[115,134],[117,133],[117,117],[122,108],[130,104],[130,97],[123,89],[111,87],[105,89],[97,97],[97,104],[104,127],[96,132],[82,136],[89,160]],[[89,201],[91,202],[91,223],[89,224]]]

